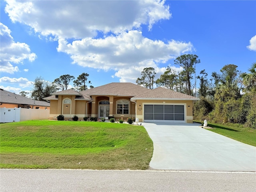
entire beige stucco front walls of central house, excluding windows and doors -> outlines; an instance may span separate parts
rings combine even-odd
[[[63,100],[69,98],[71,104],[63,104]],[[78,116],[79,120],[83,120],[84,116],[98,117],[98,103],[102,100],[110,101],[110,116],[113,115],[116,119],[123,118],[126,120],[128,117],[136,117],[140,122],[143,122],[144,104],[184,104],[185,105],[185,120],[187,123],[193,122],[193,102],[190,100],[137,100],[135,102],[130,101],[130,97],[123,96],[92,96],[93,101],[75,100],[75,96],[58,96],[58,100],[51,100],[50,102],[50,119],[63,114],[65,120],[72,118],[74,115]],[[129,101],[129,114],[117,114],[116,102],[118,100]],[[87,114],[86,114],[86,103]],[[67,106],[67,107],[66,107]],[[136,115],[135,115],[136,114]]]

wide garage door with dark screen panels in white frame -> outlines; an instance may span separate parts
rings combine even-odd
[[[144,122],[185,122],[184,105],[144,105]]]

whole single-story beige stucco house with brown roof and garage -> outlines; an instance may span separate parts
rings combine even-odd
[[[110,83],[77,92],[63,90],[44,98],[50,100],[50,119],[64,115],[116,119],[138,118],[139,122],[193,122],[193,101],[199,98],[158,87],[148,89],[133,83]]]

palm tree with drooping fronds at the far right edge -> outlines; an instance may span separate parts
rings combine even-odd
[[[250,73],[242,73],[243,84],[246,86],[244,92],[256,92],[256,62],[248,70]]]

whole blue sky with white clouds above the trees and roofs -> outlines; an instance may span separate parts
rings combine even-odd
[[[0,88],[29,92],[36,77],[89,74],[92,86],[156,78],[196,54],[210,78],[256,62],[256,1],[0,1]],[[70,88],[73,84],[70,83]]]

